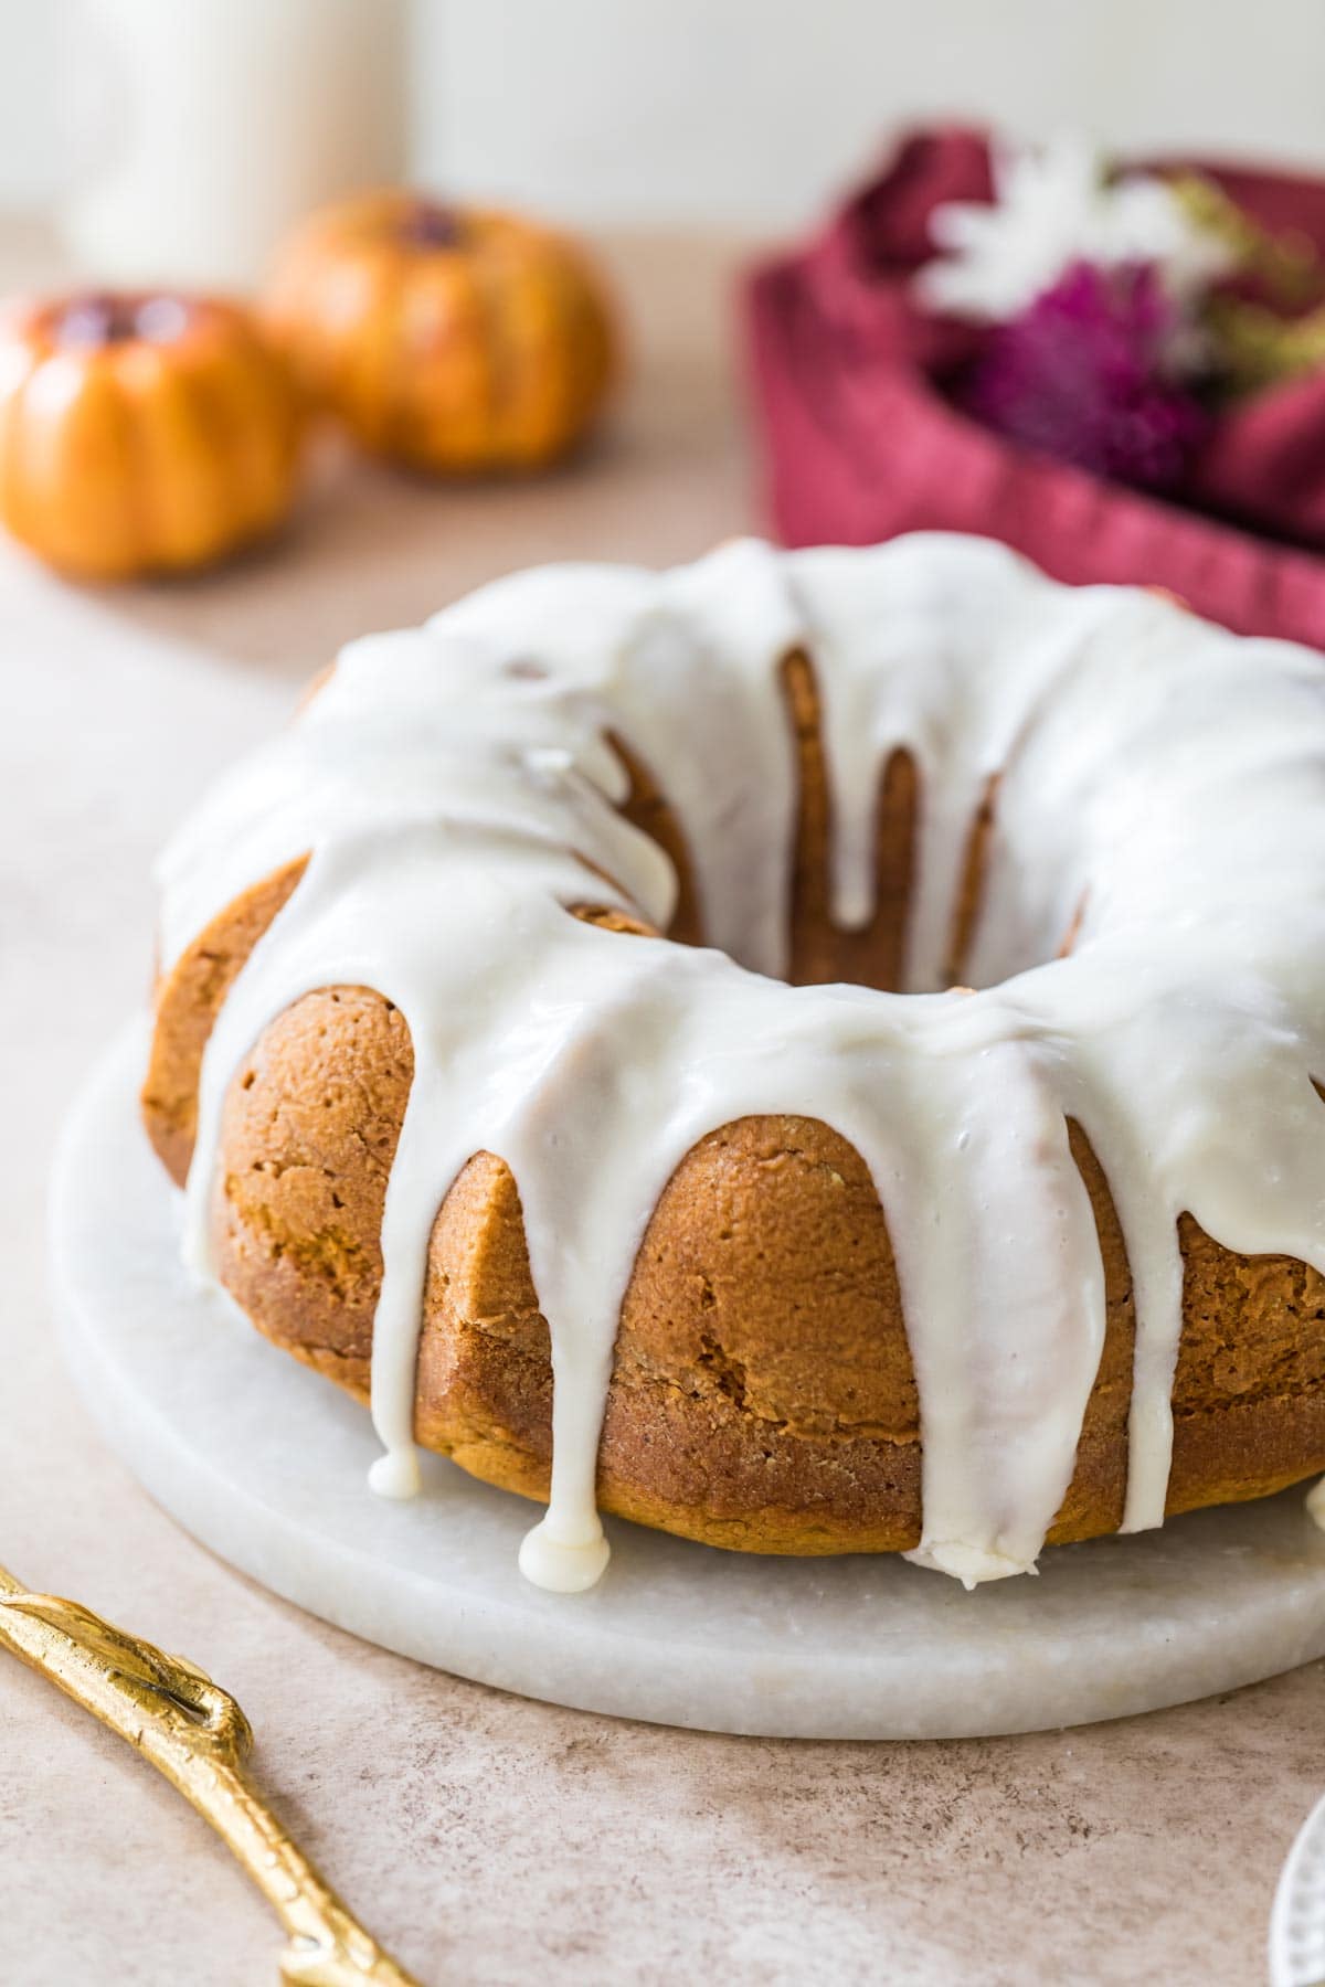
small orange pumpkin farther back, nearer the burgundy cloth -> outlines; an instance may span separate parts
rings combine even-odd
[[[314,215],[276,266],[268,322],[366,449],[431,471],[552,461],[614,370],[612,314],[572,240],[407,191]]]

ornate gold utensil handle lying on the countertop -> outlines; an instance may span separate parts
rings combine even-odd
[[[213,1824],[290,1935],[286,1987],[419,1987],[266,1806],[244,1772],[248,1719],[205,1671],[77,1602],[28,1594],[2,1566],[0,1645],[127,1739]]]

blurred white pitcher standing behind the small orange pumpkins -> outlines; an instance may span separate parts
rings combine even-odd
[[[248,288],[312,207],[407,171],[409,0],[83,0],[60,203],[105,284]]]

